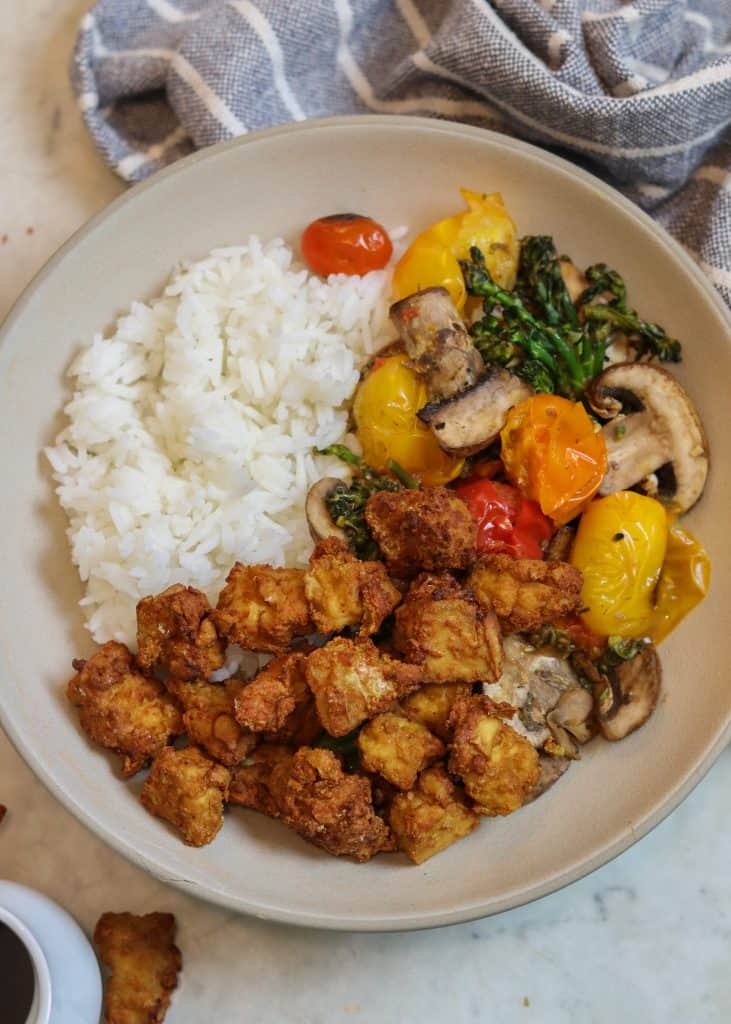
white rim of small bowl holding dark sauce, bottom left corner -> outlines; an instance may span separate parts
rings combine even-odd
[[[101,975],[74,919],[46,896],[0,882],[0,922],[28,950],[35,989],[26,1024],[97,1024]]]

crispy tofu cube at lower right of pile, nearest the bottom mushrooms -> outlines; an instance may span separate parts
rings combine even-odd
[[[503,721],[514,710],[472,696],[458,700],[450,716],[449,771],[462,778],[475,811],[488,817],[522,807],[541,775],[538,751]]]

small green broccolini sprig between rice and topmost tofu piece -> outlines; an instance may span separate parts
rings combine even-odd
[[[363,561],[372,561],[379,556],[378,545],[365,522],[365,505],[369,498],[378,490],[401,490],[402,484],[390,476],[384,476],[372,469],[345,444],[331,444],[326,449],[315,449],[317,455],[331,455],[355,467],[351,483],[339,483],[325,499],[330,518],[336,526],[345,531],[350,550]],[[394,466],[397,464],[394,463]],[[398,466],[404,476],[405,470]],[[392,472],[395,470],[392,469]],[[412,477],[408,477],[412,480]],[[413,481],[416,483],[416,481]],[[412,484],[408,484],[410,486]]]

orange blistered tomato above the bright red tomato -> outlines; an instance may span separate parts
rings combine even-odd
[[[500,436],[506,473],[554,522],[577,516],[606,472],[604,438],[580,402],[533,395],[510,411]]]

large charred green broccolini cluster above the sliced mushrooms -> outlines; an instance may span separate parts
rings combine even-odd
[[[492,281],[475,247],[461,266],[468,293],[483,300],[483,316],[470,329],[482,358],[510,370],[536,391],[580,398],[604,369],[606,350],[618,336],[638,357],[676,362],[681,357],[680,342],[628,306],[625,282],[603,263],[587,270],[589,286],[574,308],[548,236],[521,241],[514,292]],[[594,302],[605,293],[610,296],[606,304]]]

